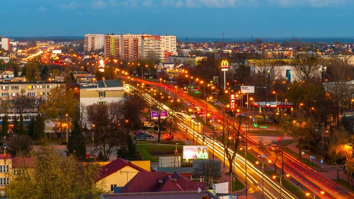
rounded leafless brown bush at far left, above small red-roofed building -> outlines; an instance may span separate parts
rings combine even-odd
[[[32,139],[27,135],[15,135],[9,141],[10,153],[13,156],[27,155],[32,148]]]

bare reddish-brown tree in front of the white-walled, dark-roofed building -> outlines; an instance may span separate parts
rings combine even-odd
[[[102,151],[105,159],[108,159],[115,147],[125,142],[122,135],[124,129],[124,103],[110,102],[107,105],[91,104],[86,106],[86,120],[95,125],[93,128],[94,145]]]

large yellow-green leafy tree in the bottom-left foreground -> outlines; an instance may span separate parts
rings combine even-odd
[[[73,156],[63,157],[50,147],[33,150],[30,158],[21,158],[19,168],[23,175],[13,176],[6,196],[18,199],[87,198],[103,193],[99,180],[100,165],[80,163]]]

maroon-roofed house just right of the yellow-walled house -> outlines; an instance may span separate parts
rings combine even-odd
[[[142,192],[183,192],[205,190],[204,182],[192,182],[188,177],[174,172],[171,176],[166,172],[139,172],[119,193]]]

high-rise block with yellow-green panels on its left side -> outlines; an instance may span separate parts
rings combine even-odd
[[[120,37],[109,33],[104,35],[104,55],[107,59],[120,58]]]

